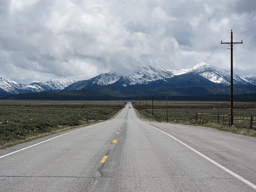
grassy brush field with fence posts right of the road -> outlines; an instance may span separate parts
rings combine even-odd
[[[166,101],[133,102],[142,118],[166,122]],[[205,126],[221,131],[256,137],[256,103],[234,103],[234,126],[229,126],[230,103],[216,101],[168,101],[168,122]],[[197,115],[196,115],[197,114]],[[219,114],[219,118],[218,118]],[[251,129],[251,117],[253,117]]]

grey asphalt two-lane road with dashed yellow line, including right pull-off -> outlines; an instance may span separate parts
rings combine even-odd
[[[256,191],[256,138],[113,120],[0,150],[0,191]]]

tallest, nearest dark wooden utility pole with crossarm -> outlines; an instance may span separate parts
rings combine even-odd
[[[243,40],[241,42],[233,42],[233,30],[231,29],[231,41],[230,42],[226,42],[223,43],[221,41],[220,44],[229,44],[230,45],[230,65],[231,65],[231,69],[230,69],[230,125],[233,125],[233,45],[235,44],[243,44]]]

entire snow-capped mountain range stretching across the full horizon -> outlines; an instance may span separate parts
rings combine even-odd
[[[254,75],[233,75],[234,93],[256,92],[256,74]],[[200,94],[222,94],[230,91],[230,72],[214,67],[207,63],[199,63],[193,68],[185,69],[163,69],[153,65],[137,67],[132,75],[117,76],[114,73],[105,73],[95,76],[88,80],[75,81],[68,80],[49,80],[45,82],[31,82],[27,85],[13,81],[6,81],[0,78],[0,95],[45,92],[45,91],[86,91],[108,88],[108,90],[125,90],[132,94],[147,94],[148,92],[163,92],[163,89],[172,89],[172,93],[181,95],[200,95]],[[128,91],[129,90],[129,91]],[[135,91],[136,90],[136,91]],[[84,92],[84,94],[86,94]],[[110,93],[108,93],[109,95]]]

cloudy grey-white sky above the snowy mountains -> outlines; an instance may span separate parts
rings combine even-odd
[[[230,46],[218,45],[231,29],[244,41],[234,73],[256,73],[255,20],[255,0],[1,0],[0,77],[84,80],[203,61],[230,71]]]

